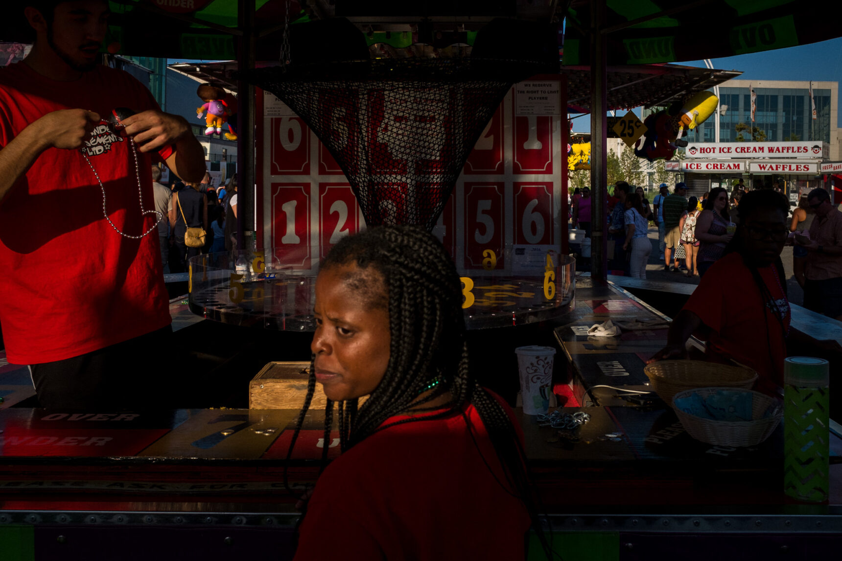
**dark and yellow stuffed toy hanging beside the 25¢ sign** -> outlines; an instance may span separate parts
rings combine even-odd
[[[650,162],[658,159],[669,160],[676,148],[687,146],[687,141],[681,140],[686,134],[685,131],[691,131],[705,122],[717,110],[718,103],[719,99],[713,93],[700,92],[672,104],[668,110],[647,116],[643,120],[647,131],[635,143],[635,155]]]

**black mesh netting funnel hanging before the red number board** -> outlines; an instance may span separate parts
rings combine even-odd
[[[293,63],[241,77],[274,93],[315,131],[369,226],[432,230],[509,88],[548,71],[546,63],[476,55],[475,46],[462,58]],[[557,72],[557,54],[554,65],[550,72]]]

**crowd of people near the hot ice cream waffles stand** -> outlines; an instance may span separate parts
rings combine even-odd
[[[779,182],[755,190],[780,195],[789,210]],[[754,192],[754,191],[752,191]],[[650,204],[646,192],[625,181],[614,185],[607,200],[608,269],[613,274],[646,278],[653,242],[648,238],[650,223],[658,228],[658,259],[663,270],[703,277],[707,270],[729,253],[735,233],[745,220],[747,196],[743,179],[733,184],[729,194],[715,187],[701,198],[687,197],[687,185],[679,182],[672,192],[660,184]],[[591,234],[589,188],[576,189],[570,199],[574,229]],[[840,205],[842,207],[842,205]],[[804,289],[804,307],[831,318],[842,318],[842,212],[830,201],[827,190],[803,192],[797,208],[787,216],[783,243],[792,246],[792,272]],[[782,277],[786,282],[786,277]]]

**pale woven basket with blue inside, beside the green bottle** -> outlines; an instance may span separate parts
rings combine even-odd
[[[783,405],[775,398],[739,387],[701,387],[693,390],[686,390],[675,394],[674,399],[686,398],[693,393],[707,398],[717,390],[730,390],[733,392],[751,393],[751,414],[750,421],[726,421],[703,419],[695,415],[685,413],[673,404],[675,414],[678,415],[681,425],[684,426],[687,434],[697,441],[706,442],[712,446],[757,446],[765,441],[775,432],[783,417]],[[763,417],[769,408],[771,414]]]

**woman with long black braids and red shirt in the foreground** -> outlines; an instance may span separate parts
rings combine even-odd
[[[370,228],[323,260],[290,453],[319,382],[325,441],[338,403],[342,454],[308,501],[296,559],[525,557],[536,508],[522,434],[472,377],[461,303],[450,256],[418,227]]]

